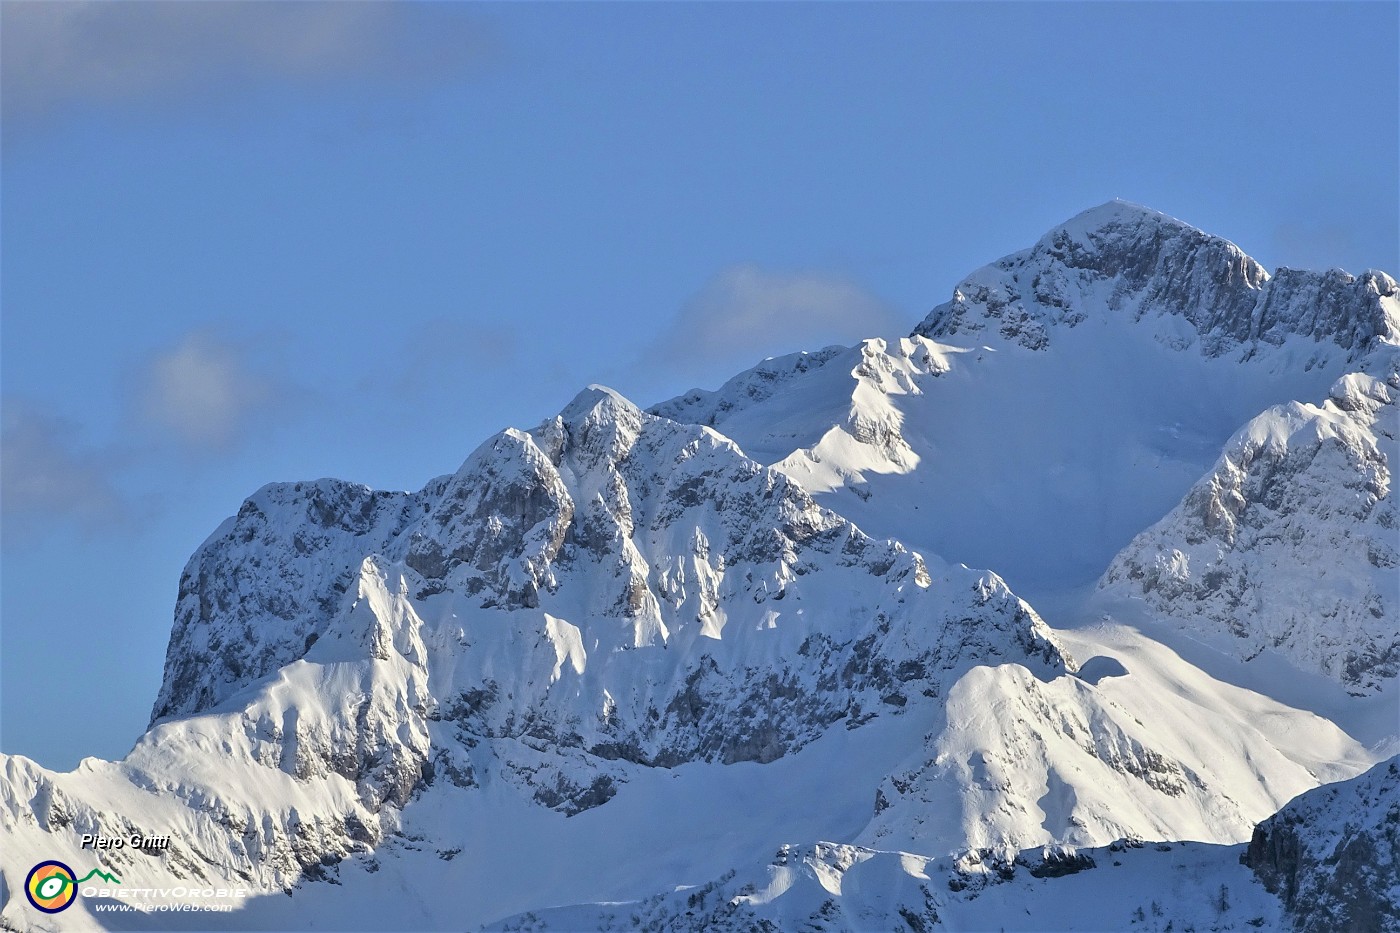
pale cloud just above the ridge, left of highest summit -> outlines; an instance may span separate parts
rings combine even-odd
[[[907,329],[907,321],[851,282],[738,265],[685,304],[654,350],[687,373],[700,373]]]

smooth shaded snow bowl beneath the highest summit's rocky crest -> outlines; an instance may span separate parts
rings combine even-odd
[[[1036,597],[1098,579],[1246,420],[1324,398],[1345,367],[1306,368],[1316,352],[1205,357],[1105,317],[1047,350],[871,339],[762,402],[746,373],[654,410],[722,431],[871,534]]]

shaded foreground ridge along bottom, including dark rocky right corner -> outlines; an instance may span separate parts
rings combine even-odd
[[[830,842],[783,845],[706,884],[533,911],[491,930],[1389,933],[1400,930],[1397,776],[1400,759],[1390,759],[1302,794],[1260,824],[1247,846],[1131,839],[930,859]]]

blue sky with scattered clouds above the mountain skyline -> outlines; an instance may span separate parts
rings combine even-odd
[[[1110,198],[1400,272],[1397,11],[7,1],[0,748],[123,755],[266,482],[906,332]]]

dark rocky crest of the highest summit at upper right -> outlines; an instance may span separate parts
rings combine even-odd
[[[916,333],[1000,338],[1043,350],[1056,328],[1107,311],[1154,328],[1163,343],[1194,343],[1205,356],[1309,338],[1357,360],[1400,332],[1397,296],[1394,279],[1380,272],[1280,269],[1270,277],[1226,240],[1109,202],[970,275]]]

